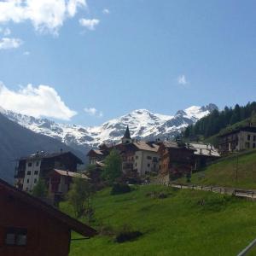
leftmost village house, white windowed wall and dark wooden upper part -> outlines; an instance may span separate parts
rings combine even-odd
[[[77,172],[77,166],[83,162],[71,152],[37,152],[18,160],[15,172],[15,184],[22,190],[32,191],[39,177],[44,178],[49,187],[49,173],[54,169]]]

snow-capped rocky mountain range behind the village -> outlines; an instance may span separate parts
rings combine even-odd
[[[0,109],[0,112],[32,131],[54,137],[62,143],[84,151],[84,149],[94,148],[101,143],[119,142],[127,125],[129,125],[133,138],[148,140],[171,138],[186,126],[194,124],[198,119],[211,113],[214,109],[218,109],[214,104],[204,107],[193,106],[179,110],[173,116],[151,113],[147,109],[138,109],[95,127],[58,124],[49,119],[37,119],[3,108]]]

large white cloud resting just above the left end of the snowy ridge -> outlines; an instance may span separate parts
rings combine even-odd
[[[66,106],[54,88],[42,84],[38,87],[28,84],[15,91],[0,83],[0,106],[36,118],[69,120],[77,114]]]

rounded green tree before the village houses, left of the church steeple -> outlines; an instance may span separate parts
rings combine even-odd
[[[109,183],[114,183],[122,175],[122,159],[119,152],[113,149],[104,160],[102,178]]]

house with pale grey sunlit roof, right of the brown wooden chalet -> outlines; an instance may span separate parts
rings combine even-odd
[[[194,170],[198,170],[212,163],[213,160],[217,160],[220,155],[218,150],[211,144],[202,143],[189,143],[190,148],[194,148]]]

